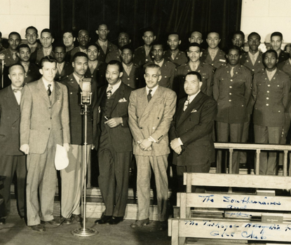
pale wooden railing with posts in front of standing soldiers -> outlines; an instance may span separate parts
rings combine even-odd
[[[256,162],[255,162],[255,174],[259,174],[259,154],[261,151],[284,151],[283,160],[283,176],[287,176],[287,155],[288,151],[291,151],[290,145],[271,145],[271,144],[243,144],[243,143],[215,143],[215,149],[229,150],[229,162],[232,162],[232,155],[234,150],[255,150]],[[221,164],[221,163],[220,163]],[[217,169],[221,169],[221,166],[217,166]],[[232,173],[232,165],[229,165],[229,174]]]

